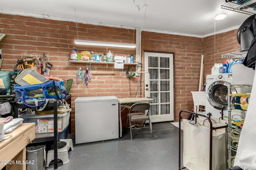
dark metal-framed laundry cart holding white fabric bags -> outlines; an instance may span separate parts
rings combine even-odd
[[[183,166],[181,167],[181,128],[179,128],[179,170],[226,170],[226,121],[200,113],[193,120],[179,114],[179,127],[183,123]],[[200,116],[200,117],[198,117]]]

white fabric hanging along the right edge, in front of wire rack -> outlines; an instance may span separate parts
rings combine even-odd
[[[246,112],[246,118],[240,134],[234,166],[239,166],[243,170],[256,170],[256,74],[250,102]]]

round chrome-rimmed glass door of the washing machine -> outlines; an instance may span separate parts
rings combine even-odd
[[[228,82],[216,81],[210,84],[207,89],[207,100],[209,104],[221,110],[222,107],[228,106]],[[236,94],[236,89],[231,88],[231,93]]]

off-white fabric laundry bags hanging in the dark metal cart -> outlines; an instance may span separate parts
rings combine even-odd
[[[198,118],[195,125],[183,119],[183,165],[189,170],[208,170],[210,129]],[[212,170],[226,170],[225,131],[212,131]]]

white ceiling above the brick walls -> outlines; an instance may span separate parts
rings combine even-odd
[[[225,3],[225,0],[0,0],[0,13],[206,37],[239,28],[249,17],[221,9]],[[215,21],[220,12],[227,17]]]

